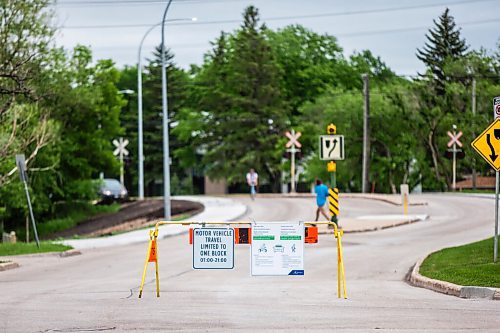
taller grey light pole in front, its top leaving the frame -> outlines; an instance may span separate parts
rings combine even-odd
[[[170,150],[168,142],[167,69],[165,68],[165,19],[172,0],[169,0],[161,20],[161,85],[163,110],[163,208],[165,220],[170,220]]]

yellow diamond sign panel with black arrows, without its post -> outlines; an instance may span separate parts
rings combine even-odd
[[[500,118],[495,119],[471,145],[493,169],[500,171]]]

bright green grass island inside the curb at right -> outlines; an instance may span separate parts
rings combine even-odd
[[[500,262],[493,263],[493,238],[430,255],[420,274],[462,286],[500,288]]]

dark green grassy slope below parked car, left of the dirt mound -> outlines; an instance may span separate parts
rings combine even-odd
[[[55,232],[72,228],[79,222],[97,214],[115,213],[119,210],[120,204],[118,203],[112,205],[92,205],[89,203],[75,205],[73,206],[73,210],[68,211],[64,217],[37,223],[38,235],[40,237],[51,235]],[[25,238],[24,229],[18,230],[16,233],[18,234],[18,239]]]

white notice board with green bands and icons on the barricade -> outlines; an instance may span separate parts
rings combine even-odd
[[[252,275],[304,275],[304,224],[252,225]]]

